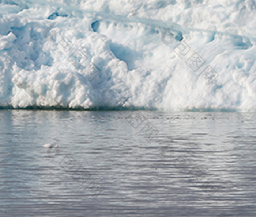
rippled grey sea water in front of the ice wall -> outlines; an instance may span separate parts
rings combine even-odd
[[[0,216],[256,216],[255,113],[141,114],[1,110]]]

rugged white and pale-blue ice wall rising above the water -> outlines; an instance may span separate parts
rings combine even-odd
[[[63,37],[74,44],[64,55]],[[69,61],[76,49],[100,70],[94,80]],[[194,52],[205,61],[196,72]],[[198,76],[208,65],[210,85]],[[256,111],[255,0],[0,0],[1,108],[114,108],[121,97],[143,109]]]

